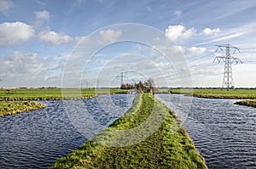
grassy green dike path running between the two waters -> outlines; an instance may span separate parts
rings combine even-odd
[[[111,141],[108,131],[127,130],[140,126],[152,111],[164,113],[166,116],[163,116],[164,121],[160,123],[160,127],[142,142],[125,147],[110,147],[95,142],[102,137]],[[177,132],[172,132],[173,125],[177,127]],[[135,99],[132,108],[124,116],[114,121],[103,132],[96,134],[96,137],[88,140],[79,149],[55,161],[51,168],[207,168],[207,166],[175,114],[149,93],[143,93]]]

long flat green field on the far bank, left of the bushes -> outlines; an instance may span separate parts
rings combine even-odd
[[[70,89],[72,91],[72,89]],[[67,92],[65,90],[65,92]],[[78,92],[76,89],[75,92]],[[81,98],[67,98],[67,99],[88,99],[97,94],[106,93],[128,93],[127,90],[120,90],[116,88],[111,89],[81,89]],[[77,93],[72,93],[78,95]],[[1,89],[0,101],[19,101],[19,100],[61,100],[61,88],[44,88],[44,89]]]

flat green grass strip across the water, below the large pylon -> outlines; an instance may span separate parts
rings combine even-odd
[[[256,99],[256,89],[172,89],[172,93],[183,93],[208,99]]]

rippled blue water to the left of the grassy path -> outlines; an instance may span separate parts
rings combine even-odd
[[[86,111],[99,124],[90,127],[90,132],[123,115],[133,98],[131,94],[115,94],[84,100]],[[0,168],[47,168],[87,140],[73,126],[62,101],[43,103],[47,104],[44,110],[0,118]],[[78,113],[83,117],[82,110]]]

